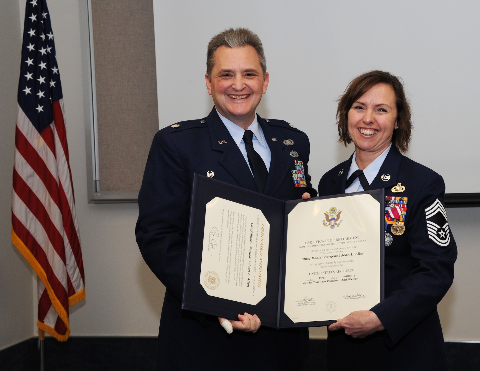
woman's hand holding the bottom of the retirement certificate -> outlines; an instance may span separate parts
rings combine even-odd
[[[384,330],[385,327],[374,312],[355,311],[328,326],[330,331],[340,330],[341,328],[345,329],[345,334],[363,339],[365,336]]]

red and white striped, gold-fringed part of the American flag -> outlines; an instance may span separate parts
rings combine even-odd
[[[66,340],[69,306],[84,298],[85,277],[63,99],[53,102],[53,122],[41,133],[18,106],[12,240],[41,280],[38,327]]]

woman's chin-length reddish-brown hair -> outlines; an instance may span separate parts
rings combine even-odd
[[[348,111],[360,96],[364,95],[376,84],[390,85],[395,92],[398,129],[393,132],[392,143],[399,151],[405,153],[408,150],[412,135],[410,105],[408,104],[402,82],[390,72],[365,72],[348,84],[347,89],[338,99],[338,107],[336,109],[338,135],[340,136],[339,142],[345,144],[345,146],[352,143],[352,139],[348,135]]]

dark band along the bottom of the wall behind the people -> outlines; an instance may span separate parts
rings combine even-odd
[[[445,343],[450,371],[480,371],[480,344]],[[326,340],[310,340],[302,371],[326,370]],[[153,371],[155,337],[71,337],[45,339],[46,371]],[[31,338],[0,351],[1,371],[37,371],[38,340]]]

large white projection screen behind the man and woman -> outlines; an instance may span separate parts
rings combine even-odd
[[[210,112],[208,41],[247,27],[262,39],[270,73],[257,112],[308,134],[315,188],[354,150],[337,142],[336,99],[354,77],[380,69],[403,78],[411,101],[407,156],[442,175],[447,193],[480,192],[480,2],[153,2],[160,128]]]

